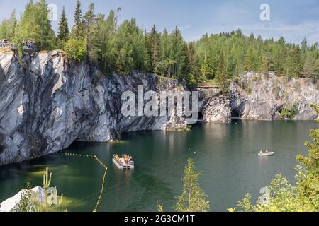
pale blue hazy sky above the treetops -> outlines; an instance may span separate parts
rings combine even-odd
[[[18,15],[28,0],[0,0],[0,20],[8,18],[13,9]],[[36,1],[36,0],[35,0]],[[73,23],[75,0],[47,0],[56,4],[58,18],[65,6],[69,23]],[[303,37],[313,44],[319,42],[319,0],[82,0],[82,11],[91,2],[96,4],[96,13],[122,8],[120,21],[135,17],[144,28],[157,25],[158,30],[181,29],[187,41],[201,35],[227,32],[237,28],[249,35],[263,38],[281,35],[288,42],[300,43]],[[269,4],[270,21],[259,18],[261,4]],[[57,22],[52,23],[57,30]]]

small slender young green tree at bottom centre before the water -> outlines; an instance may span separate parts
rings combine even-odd
[[[189,159],[184,169],[182,194],[174,206],[177,212],[207,212],[210,210],[208,196],[198,184],[201,172],[196,172],[194,160]]]

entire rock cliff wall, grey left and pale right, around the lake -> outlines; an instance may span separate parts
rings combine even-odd
[[[108,78],[86,62],[70,61],[60,52],[25,54],[17,59],[0,52],[0,165],[68,148],[74,141],[112,141],[125,131],[186,129],[186,119],[124,117],[124,91],[184,90],[177,81],[146,73]],[[199,91],[203,122],[279,119],[286,107],[294,119],[315,119],[310,103],[318,104],[318,84],[285,81],[274,74],[247,73],[220,90]]]

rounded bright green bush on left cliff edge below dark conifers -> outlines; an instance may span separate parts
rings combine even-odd
[[[86,41],[71,37],[65,44],[65,52],[70,58],[82,61],[86,57]]]

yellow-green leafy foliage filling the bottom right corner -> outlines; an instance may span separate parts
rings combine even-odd
[[[319,211],[319,130],[310,131],[313,143],[306,143],[308,157],[298,155],[303,165],[296,167],[296,186],[277,175],[269,186],[269,202],[252,205],[249,194],[238,202],[237,208],[245,212],[318,212]]]

